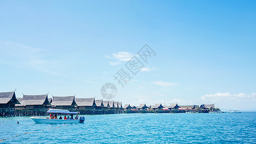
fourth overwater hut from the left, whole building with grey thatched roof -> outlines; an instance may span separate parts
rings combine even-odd
[[[95,109],[95,98],[75,98],[77,109]]]

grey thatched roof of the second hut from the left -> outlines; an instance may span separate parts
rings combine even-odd
[[[47,95],[24,95],[22,105],[50,105]]]

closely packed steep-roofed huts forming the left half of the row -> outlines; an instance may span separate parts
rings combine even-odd
[[[95,98],[76,98],[75,96],[23,95],[15,92],[0,93],[0,108],[57,108],[57,109],[122,109],[122,102],[104,101]]]

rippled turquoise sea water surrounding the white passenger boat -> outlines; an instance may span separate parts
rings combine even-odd
[[[256,112],[86,115],[85,123],[68,125],[15,117],[0,118],[0,128],[0,143],[12,144],[252,144]]]

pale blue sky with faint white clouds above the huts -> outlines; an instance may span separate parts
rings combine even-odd
[[[0,1],[0,91],[256,108],[254,0]],[[113,75],[156,56],[123,88]]]

